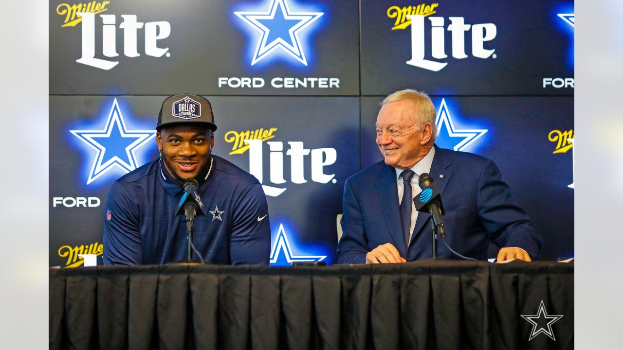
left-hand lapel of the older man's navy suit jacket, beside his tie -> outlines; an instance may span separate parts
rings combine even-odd
[[[389,234],[394,240],[394,247],[396,247],[402,257],[406,257],[407,244],[404,242],[404,236],[402,235],[396,171],[391,166],[384,166],[379,176],[380,179],[376,182],[376,189],[381,199],[383,218],[387,224]]]

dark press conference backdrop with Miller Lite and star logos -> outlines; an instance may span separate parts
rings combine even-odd
[[[379,102],[402,88],[432,96],[439,146],[498,164],[543,258],[571,257],[574,19],[535,0],[50,2],[49,263],[102,263],[108,189],[158,156],[184,92],[262,182],[271,264],[335,263],[344,182],[382,159]]]

